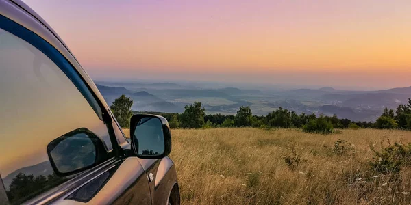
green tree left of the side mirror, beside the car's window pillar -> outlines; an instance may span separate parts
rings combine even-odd
[[[110,109],[112,113],[119,122],[120,126],[123,128],[130,127],[130,118],[132,118],[132,105],[133,100],[127,98],[125,95],[121,95],[119,98],[114,100]]]

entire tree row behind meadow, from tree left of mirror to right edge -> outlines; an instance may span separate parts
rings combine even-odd
[[[132,116],[133,101],[124,95],[112,103],[112,113],[119,124],[127,128]],[[134,112],[154,113],[169,120],[171,128],[210,128],[210,127],[260,127],[260,128],[303,128],[310,133],[332,133],[334,128],[381,128],[411,130],[411,99],[408,104],[399,105],[393,109],[384,109],[376,122],[354,122],[337,115],[326,116],[315,113],[296,113],[279,107],[267,115],[253,115],[249,106],[241,106],[236,115],[206,114],[201,102],[186,105],[183,113]]]

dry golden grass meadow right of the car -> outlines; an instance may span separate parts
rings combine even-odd
[[[127,133],[127,131],[126,131]],[[370,169],[370,146],[408,131],[210,128],[172,131],[182,204],[411,204],[411,169]]]

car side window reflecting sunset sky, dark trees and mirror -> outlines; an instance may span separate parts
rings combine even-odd
[[[66,137],[67,133],[77,132],[70,136],[86,142],[91,140],[86,139],[89,136],[101,141],[106,152],[103,156],[108,158],[108,152],[112,151],[108,127],[45,53],[0,29],[0,68],[0,174],[12,204],[25,202],[73,176],[56,173],[47,154],[49,143]],[[86,131],[87,135],[78,134],[79,131]],[[56,146],[62,151],[51,153],[55,156],[64,153],[63,146],[71,146],[73,139]],[[82,148],[78,142],[77,147]],[[95,154],[96,151],[83,152]],[[57,165],[68,164],[55,158]],[[69,165],[77,169],[92,162],[90,157],[76,156]]]

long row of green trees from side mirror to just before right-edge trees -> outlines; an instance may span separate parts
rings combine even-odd
[[[236,115],[209,114],[201,102],[186,105],[183,113],[157,113],[169,120],[171,128],[208,128],[208,127],[262,127],[262,128],[303,128],[308,132],[330,133],[334,128],[371,128],[371,122],[353,122],[337,115],[317,116],[315,113],[297,114],[279,107],[265,116],[253,115],[250,107],[241,106]],[[316,131],[314,131],[316,130]],[[318,131],[322,130],[322,131]]]

